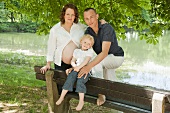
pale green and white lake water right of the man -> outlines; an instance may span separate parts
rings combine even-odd
[[[170,90],[170,32],[164,32],[157,45],[139,41],[137,33],[126,35],[127,39],[120,41],[125,50],[125,63],[117,69],[125,68],[126,76],[119,81]]]

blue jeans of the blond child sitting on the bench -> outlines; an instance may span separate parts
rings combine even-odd
[[[90,74],[87,75],[87,77],[84,79],[84,76],[81,78],[77,78],[78,72],[72,71],[66,79],[66,82],[64,83],[63,89],[68,91],[73,91],[74,83],[77,80],[76,84],[76,91],[79,93],[86,93],[86,85],[85,83],[88,81]]]

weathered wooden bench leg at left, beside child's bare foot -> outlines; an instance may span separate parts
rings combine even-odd
[[[56,82],[53,81],[54,72],[47,71],[45,74],[47,85],[47,98],[49,113],[71,113],[70,98],[65,98],[61,105],[57,106],[55,103],[59,98]]]

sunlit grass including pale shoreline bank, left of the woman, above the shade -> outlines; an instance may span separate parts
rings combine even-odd
[[[34,65],[44,65],[44,57],[26,56],[17,53],[0,53],[0,84],[15,86],[43,86],[36,80]]]

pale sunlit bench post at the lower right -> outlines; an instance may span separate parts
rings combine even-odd
[[[152,97],[152,113],[165,112],[165,95],[154,93]]]

